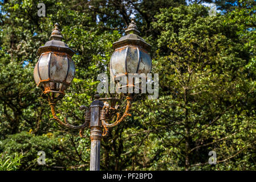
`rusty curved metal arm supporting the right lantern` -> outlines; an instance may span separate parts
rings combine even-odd
[[[126,105],[126,108],[125,108],[123,116],[119,119],[120,114],[116,113],[117,114],[117,118],[116,118],[116,121],[114,123],[107,123],[105,121],[105,107],[109,107],[109,105],[106,103],[103,106],[103,108],[101,109],[101,111],[100,111],[100,120],[101,120],[101,124],[102,124],[102,126],[104,128],[103,134],[102,134],[103,137],[108,134],[108,127],[113,127],[113,126],[118,125],[121,121],[123,121],[123,119],[125,117],[127,117],[128,115],[131,115],[128,112],[131,109],[131,100],[132,100],[132,98],[131,97],[127,97],[126,100],[127,100],[127,105]]]

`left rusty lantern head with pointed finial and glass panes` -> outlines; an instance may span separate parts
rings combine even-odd
[[[62,42],[59,24],[55,23],[50,41],[39,47],[36,55],[40,56],[34,68],[36,85],[42,91],[42,97],[58,101],[64,96],[75,76],[75,64],[71,57],[74,51]]]

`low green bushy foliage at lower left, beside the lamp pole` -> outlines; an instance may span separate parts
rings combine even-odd
[[[70,141],[72,144],[70,144]],[[78,142],[79,146],[73,146],[75,142]],[[72,166],[79,164],[79,160],[88,161],[90,159],[90,151],[86,150],[88,144],[88,142],[68,134],[47,133],[36,136],[22,131],[18,134],[9,135],[5,140],[2,140],[0,149],[7,154],[22,151],[24,158],[19,167],[22,170],[71,169]],[[38,164],[39,151],[45,152],[46,165]],[[79,156],[77,156],[78,154]],[[56,164],[63,167],[58,168]]]

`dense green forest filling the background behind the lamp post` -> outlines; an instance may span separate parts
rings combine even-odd
[[[45,17],[37,14],[38,1],[0,1],[0,164],[10,158],[19,170],[89,169],[90,138],[49,121],[50,106],[33,78],[36,51],[58,22],[76,52],[76,75],[58,116],[82,124],[78,107],[90,105],[97,74],[109,72],[112,43],[135,17],[152,45],[159,98],[142,96],[132,116],[103,138],[100,168],[256,169],[255,1],[40,2]],[[217,16],[202,5],[211,2]],[[38,151],[46,152],[46,165],[38,165]],[[208,163],[209,151],[216,151],[216,165]]]

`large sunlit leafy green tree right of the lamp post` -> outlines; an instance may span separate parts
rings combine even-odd
[[[241,41],[245,35],[238,34],[240,24],[207,14],[202,6],[180,6],[163,9],[153,23],[161,31],[155,72],[162,73],[164,96],[157,101],[161,109],[155,118],[160,118],[160,131],[170,125],[169,133],[164,128],[167,140],[162,144],[164,153],[176,156],[166,158],[165,169],[172,169],[172,161],[184,169],[210,169],[211,150],[220,163],[215,169],[252,169],[253,163],[238,160],[243,150],[255,147],[250,52]]]

